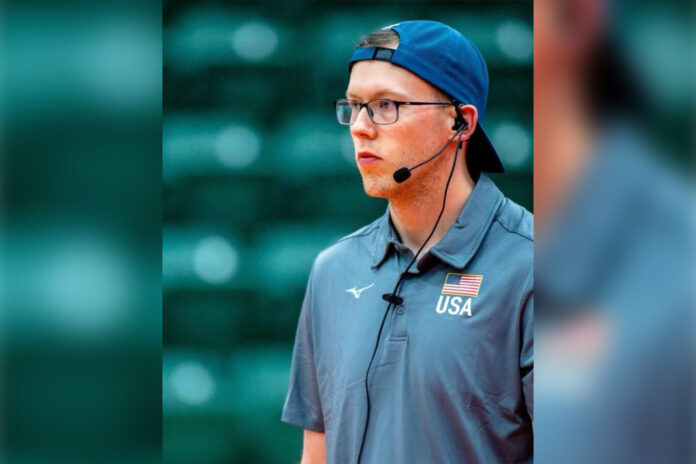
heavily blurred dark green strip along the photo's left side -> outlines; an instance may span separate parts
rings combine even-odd
[[[160,462],[161,4],[0,14],[0,462]]]

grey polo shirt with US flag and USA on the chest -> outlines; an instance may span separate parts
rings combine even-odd
[[[328,463],[532,461],[533,216],[481,174],[445,237],[413,254],[387,213],[319,254],[282,420],[326,434]]]

